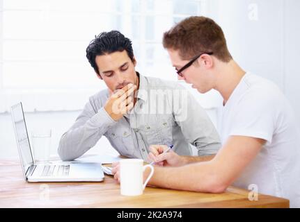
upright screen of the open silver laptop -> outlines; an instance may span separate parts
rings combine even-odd
[[[33,165],[33,157],[29,144],[22,103],[13,105],[11,108],[11,114],[15,125],[15,136],[17,139],[17,146],[19,148],[19,155],[22,160],[24,173],[26,173],[27,169]]]

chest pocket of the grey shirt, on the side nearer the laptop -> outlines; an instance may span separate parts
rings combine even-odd
[[[109,141],[120,155],[133,157],[134,143],[131,130],[127,128],[114,128],[109,130],[108,137]]]

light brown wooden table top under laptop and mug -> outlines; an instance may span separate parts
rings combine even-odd
[[[143,195],[120,195],[111,176],[104,182],[25,182],[17,160],[0,161],[0,207],[289,207],[289,200],[258,195],[248,200],[244,189],[203,194],[146,187]]]

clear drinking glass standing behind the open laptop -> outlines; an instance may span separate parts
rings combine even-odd
[[[39,129],[31,132],[33,157],[35,162],[49,162],[51,150],[51,129]]]

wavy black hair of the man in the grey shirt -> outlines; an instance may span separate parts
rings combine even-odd
[[[134,50],[132,49],[132,42],[119,31],[110,31],[100,33],[95,36],[95,39],[88,44],[86,48],[86,58],[88,62],[95,69],[99,75],[99,69],[95,62],[96,56],[102,56],[106,53],[113,53],[116,51],[127,51],[130,60],[134,61]]]

